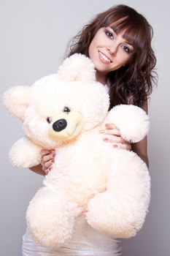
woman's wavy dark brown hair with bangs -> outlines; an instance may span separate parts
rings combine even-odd
[[[69,54],[82,53],[88,56],[90,42],[101,27],[110,26],[116,34],[134,47],[131,61],[115,71],[109,72],[110,108],[117,104],[133,104],[142,107],[157,82],[156,58],[152,50],[152,26],[146,18],[131,7],[120,4],[96,15],[82,31],[69,42]]]

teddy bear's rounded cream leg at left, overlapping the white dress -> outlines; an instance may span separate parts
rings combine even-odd
[[[31,200],[26,220],[38,244],[59,247],[72,237],[74,208],[61,193],[43,187]]]

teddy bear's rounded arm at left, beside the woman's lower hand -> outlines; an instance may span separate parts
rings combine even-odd
[[[27,137],[14,143],[9,151],[9,159],[12,165],[20,168],[29,168],[39,165],[41,162],[42,147],[34,144]]]

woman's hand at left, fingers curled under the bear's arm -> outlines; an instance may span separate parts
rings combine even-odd
[[[47,175],[47,173],[49,173],[52,168],[54,157],[55,157],[55,151],[43,149],[41,151],[41,156],[42,156],[42,161],[41,161],[42,170]]]

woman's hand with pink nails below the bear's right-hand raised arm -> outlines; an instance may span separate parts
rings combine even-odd
[[[105,124],[106,129],[99,131],[104,136],[104,141],[112,143],[114,148],[122,148],[125,150],[131,150],[131,143],[123,140],[120,135],[119,129],[115,126],[115,124]]]

